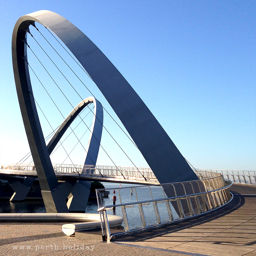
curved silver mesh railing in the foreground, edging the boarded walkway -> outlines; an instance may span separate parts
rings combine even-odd
[[[208,176],[215,176],[206,178]],[[232,199],[231,181],[218,173],[201,172],[200,180],[129,188],[97,189],[102,233],[113,236],[158,227],[191,218],[227,204]],[[203,179],[204,178],[204,179]],[[106,190],[110,196],[105,197]],[[114,192],[115,191],[115,192]],[[123,218],[110,228],[111,215]]]

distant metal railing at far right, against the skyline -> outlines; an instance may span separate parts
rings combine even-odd
[[[236,171],[236,170],[214,170],[214,169],[196,169],[196,171],[219,172],[225,179],[237,183],[247,183],[256,185],[256,171]]]

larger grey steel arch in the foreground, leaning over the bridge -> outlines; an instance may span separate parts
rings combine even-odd
[[[26,34],[35,21],[58,36],[82,64],[124,124],[160,183],[198,179],[139,95],[100,49],[68,20],[57,13],[43,10],[24,15],[16,22],[12,34],[12,61],[30,150],[38,178],[41,179],[41,188],[49,196],[49,200],[58,182],[44,142],[26,61]],[[46,193],[50,191],[51,193]]]

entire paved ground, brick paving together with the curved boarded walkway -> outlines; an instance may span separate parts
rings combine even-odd
[[[231,190],[233,201],[216,212],[109,244],[65,236],[64,223],[0,223],[0,255],[256,255],[256,186]]]

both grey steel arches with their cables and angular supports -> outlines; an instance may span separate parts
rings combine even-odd
[[[43,27],[40,24],[43,25]],[[83,72],[85,72],[93,83],[97,85],[100,92],[108,101],[110,107],[114,110],[116,116],[122,122],[124,129],[129,133],[129,135],[126,134],[124,129],[120,127],[112,116],[111,118],[128,136],[136,149],[140,151],[160,183],[181,182],[198,179],[195,172],[192,170],[186,159],[182,156],[178,148],[174,145],[168,134],[164,131],[163,127],[156,120],[155,116],[141,100],[139,95],[133,90],[132,86],[125,80],[111,61],[109,61],[108,58],[103,54],[103,52],[101,52],[100,49],[86,35],[84,35],[81,30],[76,28],[75,25],[66,20],[64,17],[50,11],[38,11],[24,15],[17,20],[12,34],[12,63],[20,111],[47,212],[69,212],[71,209],[72,211],[75,209],[80,211],[81,209],[79,208],[80,206],[78,207],[78,205],[84,204],[85,206],[87,204],[91,180],[97,179],[99,176],[98,173],[96,173],[96,175],[93,177],[89,177],[86,171],[81,173],[77,172],[77,174],[60,174],[55,172],[50,156],[58,144],[63,146],[61,139],[64,133],[71,128],[70,125],[75,121],[76,117],[78,119],[80,118],[80,123],[83,123],[87,129],[89,129],[89,126],[84,122],[80,114],[82,113],[83,109],[87,108],[87,106],[93,103],[94,111],[90,109],[93,114],[93,121],[87,147],[84,147],[83,143],[81,143],[81,140],[78,139],[72,128],[71,133],[74,133],[76,139],[78,140],[77,143],[80,143],[84,148],[84,165],[97,166],[96,162],[99,154],[99,148],[102,148],[109,156],[101,144],[102,130],[103,128],[106,129],[105,125],[103,125],[103,111],[108,114],[109,112],[106,110],[106,108],[104,108],[104,106],[102,106],[102,104],[97,100],[97,97],[92,94],[91,90],[86,86],[86,84],[84,84],[82,79],[77,76],[74,70],[62,58],[60,53],[56,51],[53,44],[49,43],[48,39],[46,39],[41,32],[41,28],[46,29],[47,33],[50,33],[51,36],[57,40],[57,42],[62,46],[63,49],[65,49],[79,68],[82,68]],[[80,95],[78,89],[75,88],[76,85],[74,85],[73,81],[71,81],[69,76],[66,75],[67,69],[65,72],[60,70],[61,67],[59,67],[59,63],[55,63],[51,59],[51,54],[48,54],[44,50],[42,45],[39,43],[39,40],[37,40],[36,36],[32,35],[32,33],[34,35],[37,33],[40,38],[43,36],[45,39],[42,39],[44,43],[50,45],[49,47],[51,48],[51,51],[53,50],[55,53],[57,53],[61,59],[59,60],[63,63],[63,65],[65,65],[69,72],[73,73],[73,75],[78,78],[79,84],[83,84],[84,88],[86,88],[92,96],[84,98],[83,95]],[[56,42],[54,42],[54,45],[55,43]],[[58,84],[59,82],[55,80],[55,72],[51,75],[52,70],[44,66],[40,58],[37,56],[36,50],[33,48],[34,45],[36,45],[36,47],[39,46],[39,49],[43,50],[45,53],[44,56],[49,59],[56,72],[66,81],[65,83],[70,89],[68,93],[64,93],[63,91],[66,90],[66,88],[61,89],[60,84]],[[76,59],[72,56],[72,54]],[[46,89],[43,81],[36,74],[34,70],[35,67],[29,64],[31,63],[30,58],[32,58],[32,56],[36,61],[39,61],[37,64],[42,66],[45,75],[50,77],[49,79],[53,82],[54,86],[58,88],[58,92],[61,92],[61,96],[64,96],[64,104],[71,106],[71,112],[66,116],[66,118],[60,111],[60,106],[57,106],[59,99],[54,100],[54,95],[50,95],[49,91],[51,91],[52,88],[48,88],[48,90]],[[37,64],[35,66],[37,66]],[[41,71],[39,72],[41,74]],[[58,109],[58,114],[61,114],[61,116],[64,118],[64,121],[58,126],[57,129],[54,129],[50,124],[46,117],[47,113],[43,112],[42,108],[35,99],[30,74],[35,75],[36,84],[39,83],[42,85],[44,91],[47,93],[48,100],[54,104],[54,108],[56,107]],[[70,98],[70,92],[75,93],[76,97],[78,96],[80,98],[80,103],[77,104],[77,102],[75,103],[74,100],[68,99]],[[76,97],[74,99],[76,99]],[[61,105],[63,105],[63,102],[61,102]],[[46,118],[48,124],[50,124],[52,128],[52,138],[47,145],[37,108],[43,112],[43,116]],[[52,109],[50,111],[52,112]],[[106,131],[111,136],[111,139],[117,143],[108,129],[106,129]],[[118,143],[117,145],[124,152],[123,148]],[[64,150],[67,153],[65,148]],[[124,154],[136,167],[136,164],[133,163],[132,159],[125,152]],[[70,158],[70,154],[67,153],[67,155],[67,157]],[[110,156],[109,158],[111,159]],[[70,161],[72,162],[71,158]],[[114,162],[113,164],[116,165]],[[94,171],[96,170],[94,169]],[[92,174],[93,173],[90,173],[90,175]],[[36,176],[33,174],[33,172],[27,172],[26,175],[29,176],[21,185],[18,183],[13,185],[13,188],[16,186],[17,190],[17,194],[14,195],[14,197],[18,197],[18,193],[26,194],[25,192],[33,182],[33,177],[30,176]],[[73,179],[77,175],[80,175],[80,180],[78,180],[78,182],[76,182],[76,179]],[[122,177],[125,177],[123,173],[121,173],[121,175]],[[104,180],[104,175],[100,174],[100,176],[100,180]],[[60,178],[64,179],[65,182],[58,182]],[[111,179],[111,177],[108,178]],[[149,180],[144,177],[143,174],[142,178],[145,180],[145,182]],[[127,179],[127,181],[129,179]],[[133,181],[135,180],[134,177],[132,179]],[[139,180],[140,177],[136,177],[136,182],[139,182]],[[154,181],[156,181],[156,179]],[[67,199],[68,203],[66,203]]]

